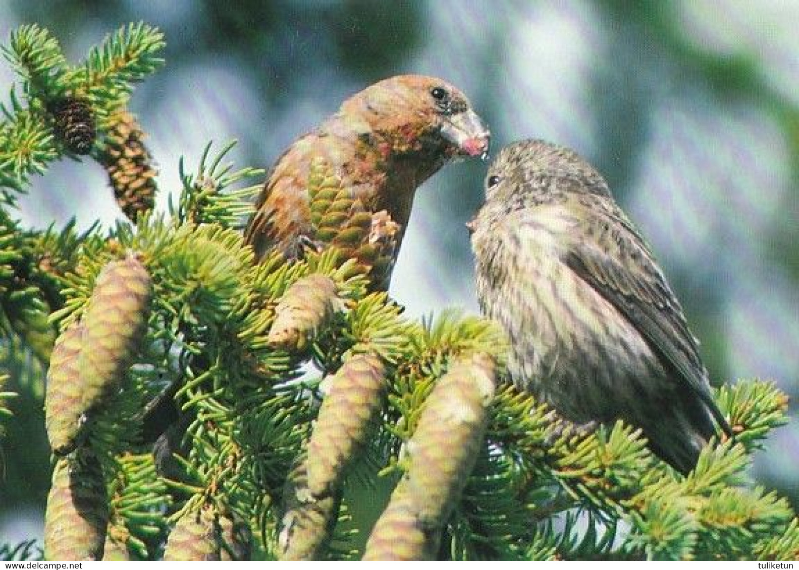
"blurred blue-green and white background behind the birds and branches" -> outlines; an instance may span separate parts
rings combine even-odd
[[[77,61],[144,20],[167,64],[134,93],[160,167],[237,138],[237,164],[282,148],[372,81],[425,73],[459,85],[495,150],[570,145],[606,175],[686,308],[714,382],[799,378],[799,2],[429,0],[5,0],[0,38],[38,22]],[[0,64],[0,97],[15,77]],[[411,315],[476,311],[463,224],[485,164],[455,164],[419,192],[392,294]],[[26,224],[121,216],[96,164],[56,164],[21,203]],[[41,536],[48,450],[37,402],[15,401],[0,441],[0,543]],[[796,416],[796,406],[792,406]],[[799,506],[799,431],[782,428],[757,476]]]

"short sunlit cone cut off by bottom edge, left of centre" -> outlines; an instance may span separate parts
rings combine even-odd
[[[178,519],[164,549],[164,560],[220,560],[217,513],[210,507]]]

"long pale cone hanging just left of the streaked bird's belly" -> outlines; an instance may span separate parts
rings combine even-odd
[[[487,354],[457,358],[435,383],[406,444],[404,482],[424,524],[439,527],[466,484],[483,445],[495,391],[495,362]]]

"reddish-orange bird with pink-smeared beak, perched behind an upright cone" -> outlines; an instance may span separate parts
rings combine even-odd
[[[256,258],[288,259],[314,243],[308,178],[324,160],[350,197],[372,214],[368,239],[391,238],[390,262],[402,242],[416,188],[455,156],[485,156],[489,132],[458,89],[436,77],[400,75],[350,97],[338,113],[295,141],[272,168],[245,239]],[[371,275],[388,288],[392,263]]]

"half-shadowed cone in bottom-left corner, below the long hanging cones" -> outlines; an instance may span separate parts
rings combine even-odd
[[[108,524],[102,469],[88,453],[58,459],[45,513],[46,560],[100,560]]]

